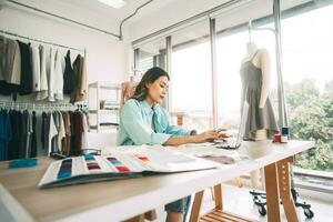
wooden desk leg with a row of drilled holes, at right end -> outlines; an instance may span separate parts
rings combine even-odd
[[[289,222],[297,222],[294,200],[291,194],[290,163],[293,158],[286,158],[278,162],[280,196]]]

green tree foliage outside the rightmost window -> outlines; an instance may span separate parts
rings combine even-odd
[[[313,80],[285,83],[291,139],[314,140],[315,148],[297,155],[296,165],[333,171],[333,80],[321,93]]]

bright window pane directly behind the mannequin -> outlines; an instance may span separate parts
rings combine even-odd
[[[240,10],[249,10],[256,6],[258,1],[253,4],[245,6]],[[272,2],[271,2],[272,3]],[[268,2],[265,2],[268,4]],[[272,4],[271,4],[272,7]],[[270,7],[270,8],[271,8]],[[269,8],[266,6],[266,8]],[[240,11],[234,11],[235,17]],[[263,13],[263,12],[262,12]],[[268,16],[265,11],[264,16]],[[272,13],[272,12],[270,12]],[[233,13],[229,13],[233,17]],[[276,97],[276,62],[275,62],[275,39],[274,33],[270,30],[252,30],[251,36],[248,28],[248,21],[251,19],[258,19],[260,14],[255,17],[243,17],[240,22],[234,23],[234,27],[226,28],[224,14],[216,17],[216,67],[218,67],[218,125],[231,129],[235,133],[239,130],[241,119],[241,103],[242,103],[242,82],[241,82],[241,65],[244,62],[244,58],[252,61],[253,54],[259,49],[265,49],[270,59],[270,71],[265,72],[270,79],[270,83],[266,84],[270,88],[270,101],[274,109],[274,117],[278,121],[278,97]],[[272,28],[273,23],[269,21],[261,21],[264,26],[259,26],[258,22],[253,23],[256,28]],[[249,42],[256,44],[256,50],[248,52]],[[246,60],[246,61],[248,61]],[[253,63],[253,62],[252,62]],[[258,68],[261,68],[259,63]],[[261,90],[261,89],[260,89]]]

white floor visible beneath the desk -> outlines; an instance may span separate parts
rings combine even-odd
[[[327,200],[315,200],[313,198],[303,200],[307,201],[312,206],[311,210],[314,212],[314,218],[309,220],[303,214],[303,210],[301,208],[297,209],[299,219],[301,221],[306,222],[332,222],[333,221],[333,201]],[[192,196],[193,200],[193,196]],[[228,201],[225,201],[228,200]],[[212,201],[212,195],[210,190],[205,191],[204,199],[203,199],[203,208],[202,212],[209,211],[213,208],[214,202]],[[223,186],[223,204],[224,210],[228,212],[232,212],[235,214],[240,214],[250,219],[258,220],[260,222],[266,222],[266,216],[261,216],[258,212],[258,206],[255,206],[252,202],[252,198],[249,194],[249,189],[245,188],[234,188],[234,186]],[[286,222],[283,208],[281,205],[282,212],[282,221]],[[189,218],[189,216],[188,216]],[[165,221],[165,213],[163,209],[158,209],[158,222]]]

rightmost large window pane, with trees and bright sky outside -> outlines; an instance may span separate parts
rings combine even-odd
[[[304,169],[333,171],[333,6],[282,20],[283,78],[292,139],[314,140]]]

